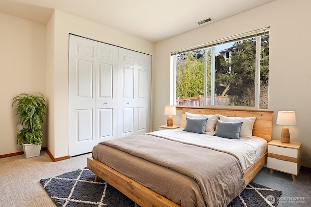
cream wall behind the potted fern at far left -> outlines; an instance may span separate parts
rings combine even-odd
[[[0,13],[0,155],[21,152],[12,99],[20,93],[46,94],[46,26]],[[44,126],[43,147],[47,145]]]

